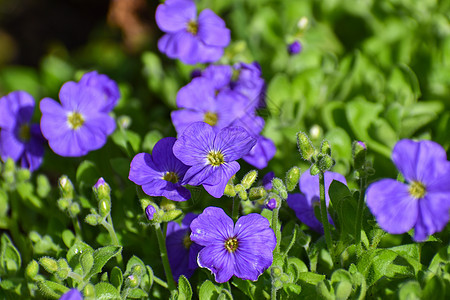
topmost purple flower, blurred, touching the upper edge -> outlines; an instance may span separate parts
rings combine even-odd
[[[230,43],[230,30],[212,10],[197,9],[191,0],[167,0],[156,9],[156,23],[166,34],[158,49],[186,64],[215,62]]]

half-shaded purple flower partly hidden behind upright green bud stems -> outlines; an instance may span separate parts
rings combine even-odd
[[[328,189],[331,182],[337,180],[347,184],[345,177],[339,173],[325,172],[325,203],[330,203]],[[289,194],[287,203],[295,212],[297,218],[308,225],[314,231],[323,233],[322,223],[317,220],[314,214],[314,206],[320,207],[319,175],[312,176],[309,169],[306,170],[299,180],[299,189],[303,194]],[[333,220],[328,216],[328,220],[333,224]]]

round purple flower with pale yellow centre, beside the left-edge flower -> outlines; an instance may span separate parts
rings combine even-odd
[[[61,156],[83,156],[106,143],[116,124],[103,112],[102,94],[95,88],[66,82],[59,91],[61,104],[42,99],[41,130],[50,148]]]

